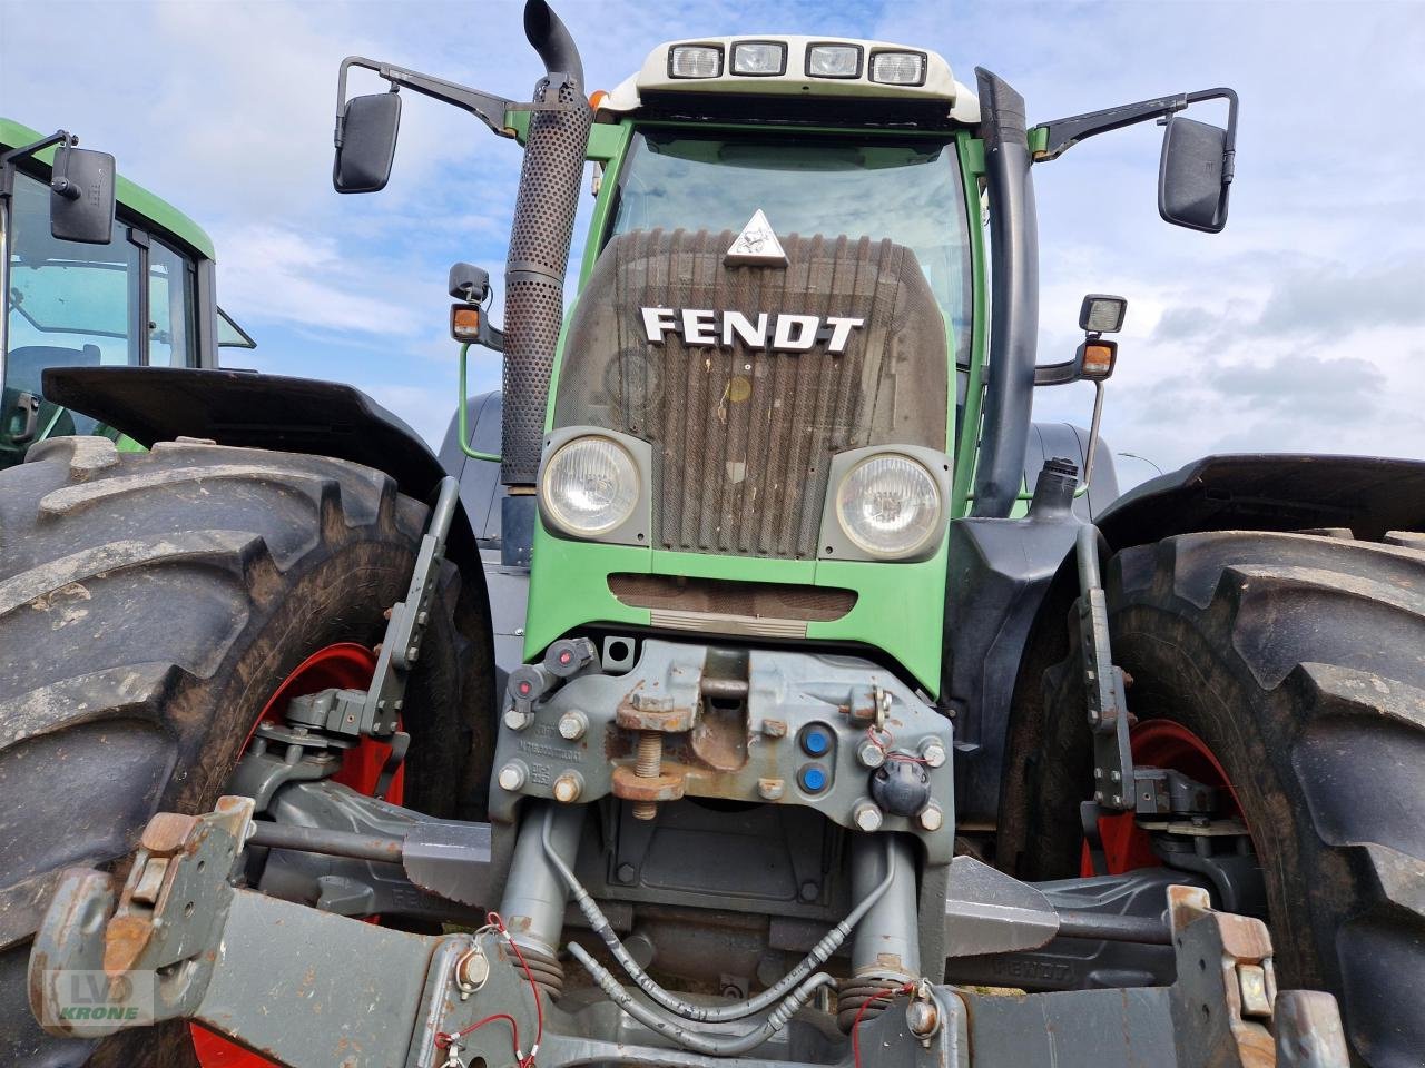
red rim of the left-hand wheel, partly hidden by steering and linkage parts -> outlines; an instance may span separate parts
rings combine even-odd
[[[332,688],[366,689],[375,671],[376,654],[365,645],[338,642],[318,649],[296,665],[292,674],[282,679],[282,685],[272,691],[272,696],[262,706],[262,713],[242,743],[242,752],[247,752],[248,745],[252,743],[258,723],[281,721],[286,702],[292,698]],[[380,769],[385,768],[389,755],[389,745],[363,738],[359,745],[345,752],[341,770],[332,776],[332,780],[349,786],[358,793],[373,795]],[[405,785],[406,769],[402,768],[390,780],[386,800],[392,805],[400,805]],[[198,1024],[191,1024],[188,1031],[192,1035],[194,1054],[197,1054],[202,1068],[276,1068],[272,1061],[258,1057]]]

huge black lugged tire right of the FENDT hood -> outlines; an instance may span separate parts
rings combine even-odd
[[[1113,656],[1133,716],[1176,721],[1226,770],[1265,877],[1278,985],[1334,993],[1358,1064],[1419,1068],[1425,538],[1334,534],[1187,534],[1119,553],[1104,578]],[[1056,879],[1079,873],[1093,769],[1077,661],[1040,685],[1012,718],[1000,862]]]

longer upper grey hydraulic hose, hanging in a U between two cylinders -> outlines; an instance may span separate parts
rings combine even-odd
[[[825,937],[822,937],[822,940],[812,947],[812,951],[807,954],[801,964],[748,1001],[721,1007],[697,1005],[691,1001],[684,1001],[675,994],[671,994],[660,987],[653,977],[648,975],[648,973],[638,967],[638,961],[633,958],[628,950],[624,948],[624,944],[618,940],[618,934],[610,926],[608,918],[603,914],[603,910],[600,910],[594,899],[589,896],[589,891],[584,890],[579,877],[569,870],[564,860],[554,852],[553,843],[550,842],[550,813],[546,813],[544,816],[543,842],[544,856],[549,857],[550,864],[559,873],[559,877],[564,880],[569,891],[574,896],[574,900],[579,903],[579,910],[584,914],[584,918],[589,920],[589,926],[593,927],[594,933],[604,940],[604,946],[608,947],[614,960],[617,960],[618,964],[623,965],[623,970],[628,973],[628,978],[638,984],[638,988],[644,994],[670,1012],[677,1012],[678,1015],[698,1024],[721,1024],[730,1020],[742,1020],[744,1017],[761,1012],[764,1008],[785,995],[815,968],[825,964],[831,958],[831,954],[841,948],[841,944],[851,934],[852,928],[861,923],[871,909],[875,907],[875,904],[891,889],[891,883],[895,880],[895,850],[889,847],[888,842],[885,879],[882,879],[881,883],[878,883],[871,893],[866,894],[865,899],[862,899],[861,903],[846,914],[846,918],[832,927]],[[573,950],[573,947],[570,948]],[[580,957],[580,960],[583,960],[583,957]],[[596,975],[594,978],[597,980],[598,977]]]

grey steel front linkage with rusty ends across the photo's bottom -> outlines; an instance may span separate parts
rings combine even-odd
[[[536,1045],[544,1068],[811,1068],[777,1038],[751,1051],[757,1059],[712,1061],[667,1048],[607,1005],[566,1012],[527,981],[497,920],[473,934],[425,937],[234,889],[251,833],[247,797],[224,797],[205,816],[160,813],[117,907],[108,874],[68,871],[30,957],[33,1008],[46,1030],[95,1038],[187,1018],[294,1068],[476,1058],[496,1068],[529,1062]],[[1170,887],[1167,904],[1171,987],[996,997],[922,983],[898,994],[903,1007],[862,1024],[859,1047],[875,1049],[876,1065],[906,1067],[1345,1068],[1334,1000],[1275,991],[1264,924],[1213,911],[1191,887]],[[78,1008],[74,991],[93,991],[95,980],[107,997]],[[818,1034],[822,1068],[854,1065],[849,1041]]]

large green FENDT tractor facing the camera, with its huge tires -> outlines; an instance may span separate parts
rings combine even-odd
[[[1418,1064],[1425,464],[1110,500],[1123,299],[1036,359],[1032,172],[1163,120],[1160,212],[1218,231],[1235,95],[1029,127],[758,36],[586,98],[526,33],[530,103],[338,80],[341,192],[410,93],[524,148],[445,464],[346,386],[44,375],[150,451],[0,481],[0,917],[60,1044],[11,1059]]]

